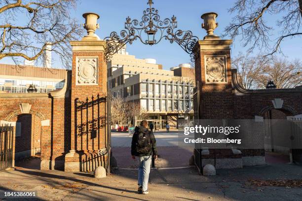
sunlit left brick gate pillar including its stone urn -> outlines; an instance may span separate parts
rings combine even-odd
[[[88,35],[71,42],[71,150],[65,157],[65,171],[94,171],[106,161],[106,130],[100,126],[106,115],[106,103],[100,101],[107,93],[106,43],[94,33],[99,16],[85,13],[83,17]]]

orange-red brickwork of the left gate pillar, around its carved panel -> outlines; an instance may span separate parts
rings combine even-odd
[[[76,58],[98,58],[98,85],[76,85]],[[100,154],[105,148],[107,64],[103,51],[74,51],[71,103],[71,149],[75,149],[81,161],[81,170],[93,171],[104,165],[106,157]],[[99,99],[98,99],[99,98]],[[88,103],[88,104],[87,104]],[[78,162],[78,158],[66,162]]]

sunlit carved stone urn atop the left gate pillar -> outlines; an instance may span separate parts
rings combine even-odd
[[[100,25],[97,23],[97,20],[100,18],[98,14],[95,13],[84,13],[83,18],[85,18],[85,24],[83,27],[87,30],[88,35],[85,37],[97,37],[95,30],[100,28]]]

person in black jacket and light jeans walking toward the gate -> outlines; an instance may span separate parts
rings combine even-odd
[[[157,148],[154,134],[148,129],[148,121],[143,120],[136,129],[131,142],[132,159],[138,157],[138,192],[148,194],[148,181],[152,157],[157,160]]]

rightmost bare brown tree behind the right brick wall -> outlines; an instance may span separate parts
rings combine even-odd
[[[302,85],[302,63],[299,60],[287,61],[274,58],[264,66],[259,81],[260,88],[265,88],[267,81],[272,80],[277,89],[294,88]]]

